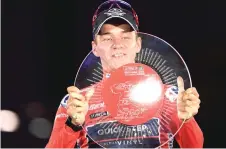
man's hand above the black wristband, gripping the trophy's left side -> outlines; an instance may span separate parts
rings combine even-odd
[[[68,87],[67,92],[69,94],[67,114],[71,117],[71,122],[74,125],[83,125],[89,108],[89,99],[93,95],[94,89],[90,89],[85,96],[75,86]]]

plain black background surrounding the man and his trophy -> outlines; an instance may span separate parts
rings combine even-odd
[[[170,43],[184,58],[202,101],[195,117],[204,147],[225,146],[225,12],[223,2],[127,0],[142,32]],[[44,147],[29,133],[33,115],[53,122],[66,88],[91,49],[92,15],[101,0],[2,0],[2,109],[15,111],[20,127],[2,133],[2,147]],[[37,111],[36,111],[37,112]]]

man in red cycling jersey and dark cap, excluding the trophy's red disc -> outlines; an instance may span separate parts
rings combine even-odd
[[[137,36],[138,17],[132,7],[122,0],[109,0],[101,4],[93,17],[93,42],[92,48],[95,56],[100,57],[104,70],[103,80],[109,74],[128,63],[135,62],[136,53],[141,49],[141,38]],[[172,114],[172,123],[168,128],[160,129],[160,119],[153,118],[150,121],[133,128],[119,127],[118,122],[111,122],[106,119],[105,123],[114,123],[114,130],[98,130],[97,136],[105,138],[105,146],[112,148],[136,148],[136,147],[158,147],[162,142],[167,141],[179,129],[183,120],[186,120],[183,127],[176,134],[175,139],[181,148],[202,148],[203,133],[194,119],[198,113],[200,99],[197,90],[192,87],[184,89],[184,82],[181,77],[177,78],[178,88],[166,86],[165,102],[175,104],[176,114]],[[100,148],[87,135],[87,131],[98,128],[95,120],[108,115],[105,104],[101,99],[94,99],[95,89],[101,87],[101,83],[81,90],[75,86],[67,88],[68,94],[62,99],[57,110],[53,130],[46,148]],[[177,98],[177,100],[175,100]],[[111,99],[109,99],[111,100]],[[178,102],[175,102],[178,101]],[[188,117],[189,114],[189,117]],[[86,124],[85,131],[82,127],[86,122],[86,116],[94,121]],[[146,133],[152,132],[152,137],[140,141],[130,138],[129,141],[113,138],[115,131],[136,130],[142,132],[149,124],[151,128]],[[131,131],[127,131],[131,132]],[[125,138],[127,134],[121,134]],[[148,135],[148,134],[147,134]],[[116,141],[117,139],[117,141]],[[110,140],[110,141],[109,141]],[[162,146],[172,148],[173,139]]]

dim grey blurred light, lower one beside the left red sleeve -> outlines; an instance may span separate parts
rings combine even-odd
[[[28,130],[37,138],[47,139],[52,130],[52,123],[45,118],[35,118],[31,120]]]

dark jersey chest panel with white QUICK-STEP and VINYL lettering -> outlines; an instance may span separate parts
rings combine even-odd
[[[158,118],[135,126],[115,121],[90,125],[86,130],[91,138],[106,148],[134,148],[143,145],[152,148],[160,145],[159,123]]]

